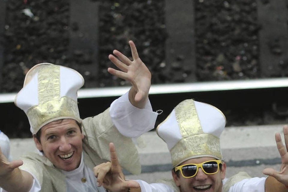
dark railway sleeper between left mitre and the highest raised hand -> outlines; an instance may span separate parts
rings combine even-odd
[[[69,57],[73,62],[78,62],[79,68],[76,70],[84,76],[84,79],[91,77],[85,85],[91,83],[94,87],[97,86],[97,82],[93,80],[97,79],[99,70],[98,12],[98,2],[70,1]]]

